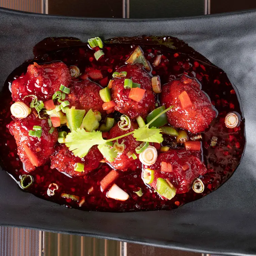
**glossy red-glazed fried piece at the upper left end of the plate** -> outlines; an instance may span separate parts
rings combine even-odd
[[[27,73],[12,83],[12,97],[14,101],[31,102],[26,95],[35,95],[38,100],[51,99],[54,92],[60,90],[61,84],[69,87],[71,76],[69,69],[63,62],[38,65],[34,62],[28,66]]]

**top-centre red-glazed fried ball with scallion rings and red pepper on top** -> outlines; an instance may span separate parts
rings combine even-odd
[[[126,65],[116,70],[126,71],[126,77],[114,78],[111,88],[112,100],[115,101],[115,110],[122,114],[129,115],[135,119],[138,116],[143,118],[155,109],[155,95],[151,86],[151,77],[138,65]],[[131,79],[134,83],[141,84],[141,89],[146,90],[144,97],[139,101],[129,98],[130,89],[124,88],[124,80]]]

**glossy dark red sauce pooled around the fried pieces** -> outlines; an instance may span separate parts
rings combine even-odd
[[[125,44],[120,44],[120,42],[125,42]],[[99,61],[96,61],[93,56],[95,51],[77,39],[46,39],[39,43],[34,49],[35,59],[15,69],[7,78],[1,91],[0,154],[3,170],[7,171],[16,181],[19,181],[22,174],[27,174],[18,158],[15,140],[6,128],[6,125],[11,122],[10,106],[13,103],[8,86],[15,76],[26,73],[28,64],[32,64],[34,61],[43,64],[60,60],[68,66],[78,66],[82,77],[89,76],[92,81],[107,86],[108,81],[112,78],[112,73],[124,65],[124,61],[138,44],[153,68],[151,74],[153,76],[159,75],[162,85],[179,78],[181,74],[196,78],[218,111],[218,116],[213,120],[210,127],[201,133],[203,137],[201,140],[203,146],[202,160],[207,168],[207,173],[200,176],[205,185],[204,192],[197,194],[190,189],[187,193],[176,194],[170,201],[161,199],[154,192],[154,189],[150,189],[144,184],[141,179],[141,169],[138,168],[134,171],[118,171],[119,177],[115,183],[125,190],[130,198],[125,202],[116,201],[106,197],[108,190],[100,191],[100,180],[111,170],[111,167],[106,163],[102,163],[98,170],[92,171],[88,175],[73,178],[56,169],[50,169],[50,163],[45,164],[30,173],[34,182],[26,189],[27,192],[67,207],[82,210],[127,212],[174,209],[207,195],[222,185],[234,173],[245,146],[244,117],[237,90],[230,83],[223,70],[211,64],[182,41],[170,37],[113,39],[110,43],[105,43],[103,48],[105,55]],[[160,64],[155,67],[153,62],[158,54],[162,54],[162,58]],[[101,74],[97,70],[101,70]],[[240,118],[239,126],[234,129],[228,129],[224,123],[225,116],[229,112],[236,112]],[[117,120],[121,114],[115,112],[113,115]],[[218,138],[217,146],[210,146],[212,136]],[[168,136],[164,136],[162,144],[176,147],[174,138]],[[56,183],[59,186],[53,196],[47,195],[50,183]],[[138,191],[138,188],[142,188],[143,196],[141,197],[133,192]],[[79,196],[80,200],[85,200],[85,203],[79,207],[79,203],[61,197],[62,193]]]

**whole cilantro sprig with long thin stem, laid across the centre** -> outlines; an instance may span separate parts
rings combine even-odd
[[[78,128],[77,130],[68,133],[65,139],[65,144],[75,156],[80,158],[85,157],[92,146],[98,145],[98,149],[100,150],[101,154],[109,162],[113,162],[117,157],[117,152],[112,147],[112,141],[133,134],[133,137],[137,141],[161,143],[163,141],[162,134],[160,133],[161,129],[156,127],[149,128],[149,125],[153,123],[159,116],[169,111],[172,107],[173,106],[159,113],[145,126],[109,140],[104,140],[102,138],[101,131],[86,132],[83,128]]]

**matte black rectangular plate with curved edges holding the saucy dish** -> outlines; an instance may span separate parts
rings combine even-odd
[[[123,20],[46,16],[0,9],[0,84],[49,36],[171,35],[226,71],[246,120],[247,146],[217,191],[173,211],[83,212],[23,193],[0,171],[0,224],[215,254],[256,254],[256,11],[180,19]]]

